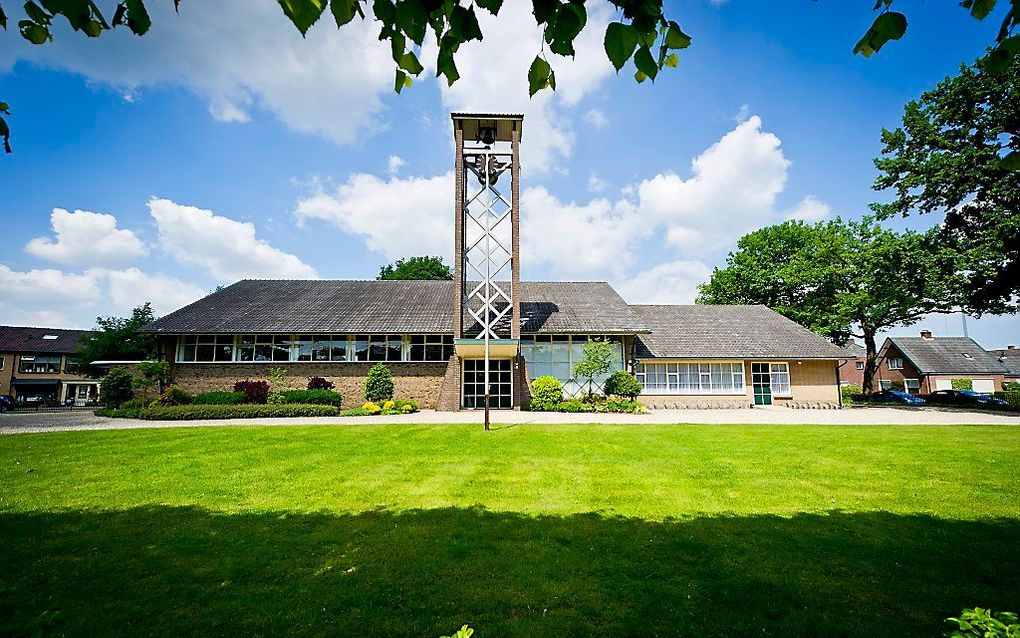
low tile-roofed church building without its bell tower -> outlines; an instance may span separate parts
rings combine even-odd
[[[174,383],[223,390],[284,367],[303,386],[324,377],[362,401],[376,361],[397,394],[423,407],[477,407],[482,372],[458,357],[454,286],[435,281],[246,280],[158,320]],[[589,339],[616,344],[614,366],[632,370],[653,405],[837,404],[836,365],[847,352],[765,306],[628,305],[603,282],[522,282],[519,344],[494,345],[494,407],[526,404],[529,382],[571,371]],[[598,388],[596,388],[598,389]]]

